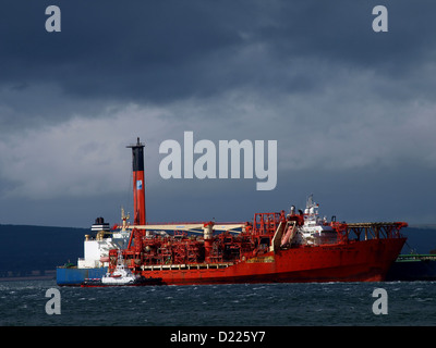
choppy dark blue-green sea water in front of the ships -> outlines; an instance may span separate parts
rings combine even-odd
[[[374,311],[377,288],[386,290],[386,314]],[[436,282],[81,288],[13,281],[0,282],[0,313],[2,326],[428,326]]]

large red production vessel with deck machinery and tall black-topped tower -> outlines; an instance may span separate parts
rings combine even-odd
[[[129,246],[109,251],[109,273],[121,257],[134,274],[168,285],[379,282],[405,241],[404,222],[327,222],[312,196],[304,211],[256,213],[252,223],[147,224],[144,145],[130,148],[134,224]]]

